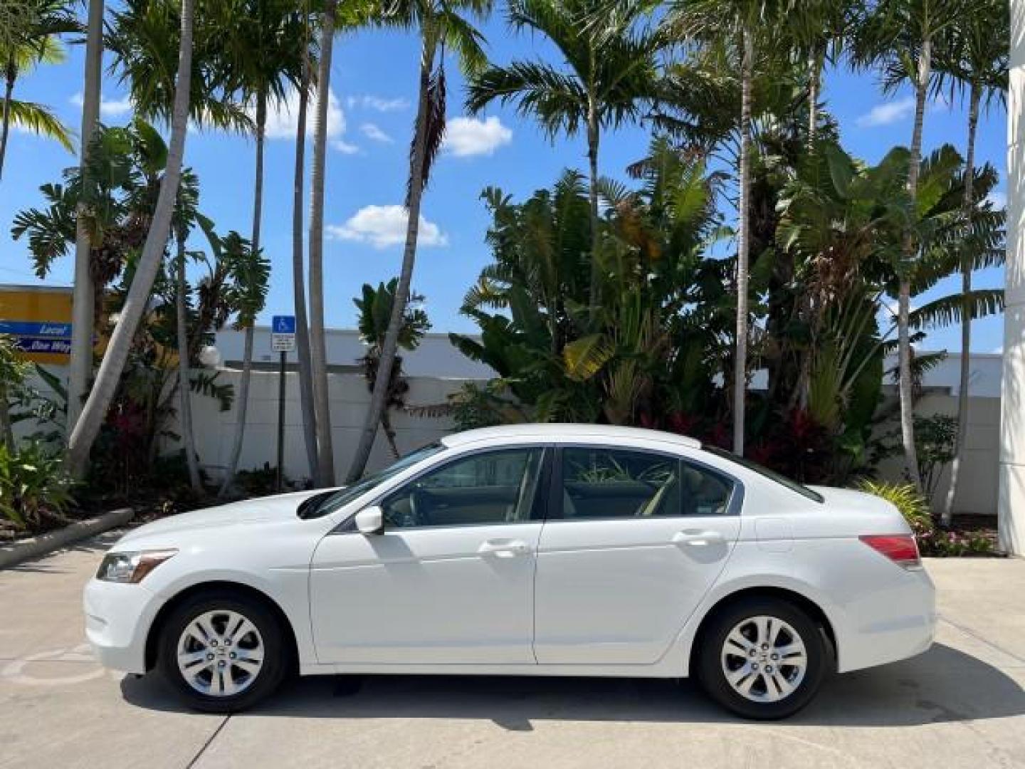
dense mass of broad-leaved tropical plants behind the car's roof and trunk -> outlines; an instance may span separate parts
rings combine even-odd
[[[967,239],[976,244],[976,266],[998,261],[1003,217],[979,203],[966,231],[961,163],[950,147],[922,162],[915,204],[902,149],[866,166],[831,138],[809,153],[790,149],[801,141],[775,138],[753,174],[752,206],[767,214],[753,230],[751,350],[767,381],[747,399],[744,449],[796,478],[842,483],[873,457],[895,332],[887,303],[908,226],[922,244],[912,274],[917,294],[957,269]],[[730,235],[714,205],[725,178],[665,138],[632,170],[638,190],[600,184],[597,312],[588,309],[581,255],[590,232],[579,174],[567,172],[521,204],[486,190],[494,262],[463,303],[481,339],[453,341],[499,373],[492,395],[511,394],[532,418],[656,427],[730,446],[724,383],[732,370],[734,257],[714,256]],[[991,169],[976,181],[991,187]],[[963,299],[926,302],[910,323],[950,323]],[[976,291],[971,300],[978,317],[998,310],[1001,296]],[[486,400],[473,398],[479,409]]]

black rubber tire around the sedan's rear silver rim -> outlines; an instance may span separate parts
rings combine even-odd
[[[727,637],[738,624],[758,616],[782,620],[796,632],[805,646],[807,664],[804,676],[791,692],[775,701],[755,701],[742,695],[727,680],[727,673],[724,670],[723,650],[727,644]],[[826,674],[833,669],[832,649],[822,626],[793,604],[776,598],[750,598],[725,606],[709,619],[709,624],[702,633],[699,643],[695,673],[701,686],[719,704],[746,719],[772,721],[792,716],[812,701],[822,686]],[[741,655],[737,654],[736,657],[739,658]],[[734,662],[734,658],[731,657],[730,661]],[[739,659],[737,661],[739,662]],[[773,663],[771,660],[768,661],[770,664]],[[778,667],[779,662],[776,664]],[[793,676],[795,669],[784,664],[784,670],[777,670],[777,673]],[[750,695],[760,696],[760,690],[764,690],[768,696],[781,695],[782,690],[775,688],[768,681],[765,672],[761,677],[753,674],[751,677],[755,681]],[[745,682],[748,680],[744,679]],[[769,691],[769,687],[774,688]]]

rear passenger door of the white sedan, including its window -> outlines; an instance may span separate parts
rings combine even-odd
[[[558,449],[537,554],[537,661],[656,662],[725,567],[742,498],[733,479],[676,455]]]

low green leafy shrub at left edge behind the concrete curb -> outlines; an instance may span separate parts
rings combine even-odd
[[[74,485],[59,456],[32,441],[16,451],[0,445],[0,516],[19,529],[63,518]]]

